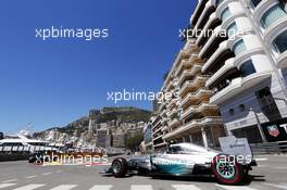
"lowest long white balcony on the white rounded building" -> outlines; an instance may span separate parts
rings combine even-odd
[[[255,85],[259,85],[264,79],[270,78],[272,72],[261,72],[261,73],[251,74],[244,78],[241,77],[234,78],[227,87],[225,87],[224,89],[216,92],[214,96],[210,98],[210,103],[221,104],[224,101],[227,101],[230,98],[234,98],[245,92],[247,89],[250,89]]]

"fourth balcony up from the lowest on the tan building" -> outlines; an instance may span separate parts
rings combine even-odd
[[[185,97],[187,92],[192,92],[198,90],[200,87],[204,87],[205,81],[208,80],[209,76],[205,75],[198,75],[194,80],[186,80],[184,85],[180,87],[178,94],[180,97]]]

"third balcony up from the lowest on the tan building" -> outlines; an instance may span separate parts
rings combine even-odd
[[[202,101],[209,101],[210,96],[212,94],[211,90],[201,88],[197,92],[189,92],[179,103],[179,107],[187,107],[191,104],[196,105]]]

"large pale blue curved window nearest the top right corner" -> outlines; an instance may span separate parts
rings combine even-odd
[[[274,24],[277,20],[286,15],[284,8],[280,4],[276,4],[269,9],[261,17],[261,23],[264,28],[267,28]]]

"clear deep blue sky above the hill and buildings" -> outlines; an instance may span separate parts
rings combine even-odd
[[[183,46],[194,0],[1,0],[0,131],[35,130],[89,109],[148,101],[107,101],[108,91],[158,91]],[[108,28],[101,40],[35,38],[36,28]]]

